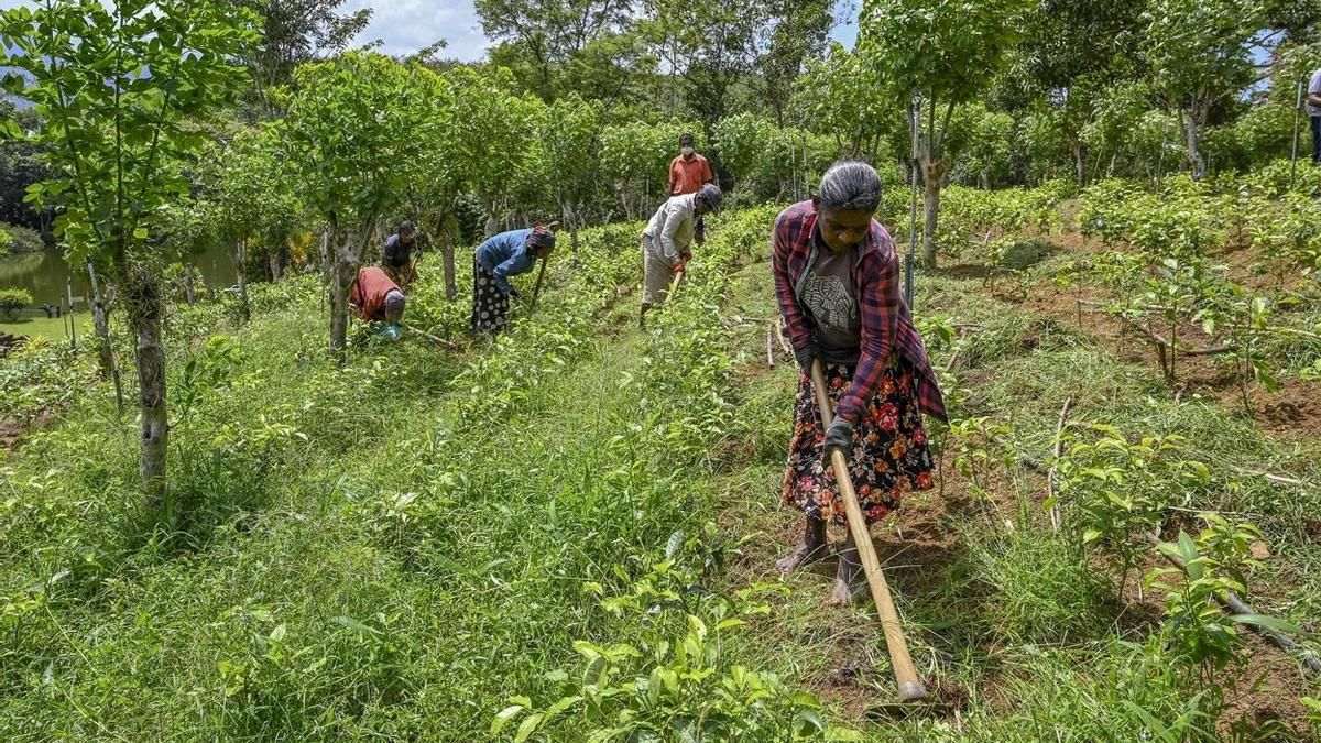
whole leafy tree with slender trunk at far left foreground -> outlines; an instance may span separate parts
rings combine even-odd
[[[0,16],[13,46],[3,63],[22,71],[4,89],[46,120],[32,136],[52,177],[32,196],[63,205],[71,264],[91,255],[111,267],[137,341],[139,475],[153,505],[165,501],[169,439],[153,233],[161,206],[188,192],[180,164],[205,144],[196,123],[242,90],[231,59],[256,41],[254,22],[211,0],[44,0]]]

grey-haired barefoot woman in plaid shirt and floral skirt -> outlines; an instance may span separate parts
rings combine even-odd
[[[900,296],[894,241],[872,215],[881,178],[865,163],[840,161],[811,201],[785,209],[773,235],[775,293],[802,368],[785,502],[807,518],[803,541],[777,565],[785,572],[830,553],[826,522],[844,525],[830,452],[849,460],[872,524],[898,508],[905,490],[931,489],[931,452],[922,412],[945,419],[945,402],[922,336]],[[820,358],[835,422],[822,430],[811,365]],[[865,586],[853,537],[839,555],[832,603]]]

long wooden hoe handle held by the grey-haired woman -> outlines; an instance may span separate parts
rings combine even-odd
[[[822,427],[828,428],[834,414],[830,407],[830,395],[826,393],[826,374],[819,358],[812,361],[812,389],[816,393]],[[863,517],[863,508],[857,505],[853,479],[848,473],[848,457],[844,456],[844,452],[835,450],[831,452],[831,465],[835,469],[835,481],[839,484],[839,493],[848,514],[848,529],[853,534],[853,543],[863,561],[863,571],[867,572],[867,584],[872,588],[872,600],[876,602],[876,612],[880,615],[881,628],[885,631],[885,646],[890,652],[890,665],[894,668],[894,684],[900,689],[900,701],[925,699],[927,697],[926,687],[917,678],[917,669],[913,668],[913,657],[908,650],[908,640],[904,637],[904,627],[900,624],[898,612],[894,611],[894,600],[885,583],[885,574],[881,572],[881,562],[876,558],[872,533]]]

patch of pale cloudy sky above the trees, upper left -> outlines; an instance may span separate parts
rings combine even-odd
[[[8,0],[0,0],[4,3]],[[366,44],[379,38],[387,54],[411,54],[444,38],[449,46],[441,57],[476,61],[486,56],[490,44],[482,36],[481,21],[472,0],[347,0],[341,11],[373,8],[371,25],[354,40]]]

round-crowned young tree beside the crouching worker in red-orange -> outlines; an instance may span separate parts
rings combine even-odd
[[[325,219],[334,245],[330,353],[343,360],[349,290],[358,262],[403,193],[410,163],[431,140],[431,123],[413,116],[411,94],[421,67],[350,52],[295,71],[297,93],[283,122],[284,147],[299,169],[304,204]]]

